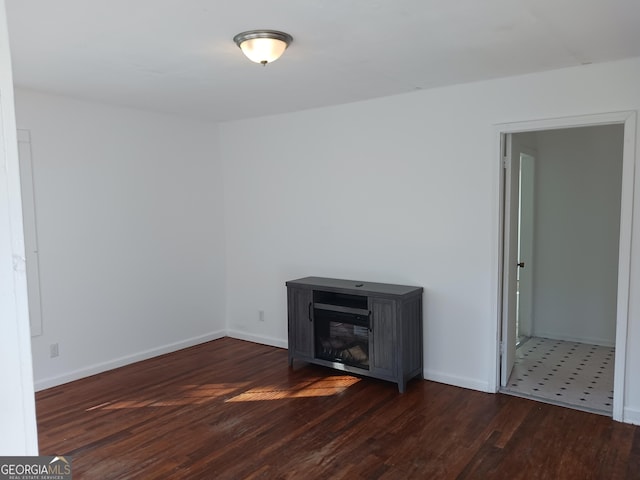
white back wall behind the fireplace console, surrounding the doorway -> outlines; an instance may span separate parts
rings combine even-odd
[[[230,333],[285,344],[287,279],[421,285],[427,378],[493,390],[495,124],[637,110],[638,84],[633,59],[221,125]],[[635,201],[631,292],[640,281]],[[639,295],[629,315],[633,366]],[[625,418],[640,422],[640,377],[626,378]]]

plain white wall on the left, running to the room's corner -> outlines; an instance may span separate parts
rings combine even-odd
[[[36,388],[222,336],[217,128],[21,89],[16,105],[34,166]]]

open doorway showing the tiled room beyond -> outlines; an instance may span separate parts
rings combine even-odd
[[[621,417],[628,117],[501,130],[504,392]]]

